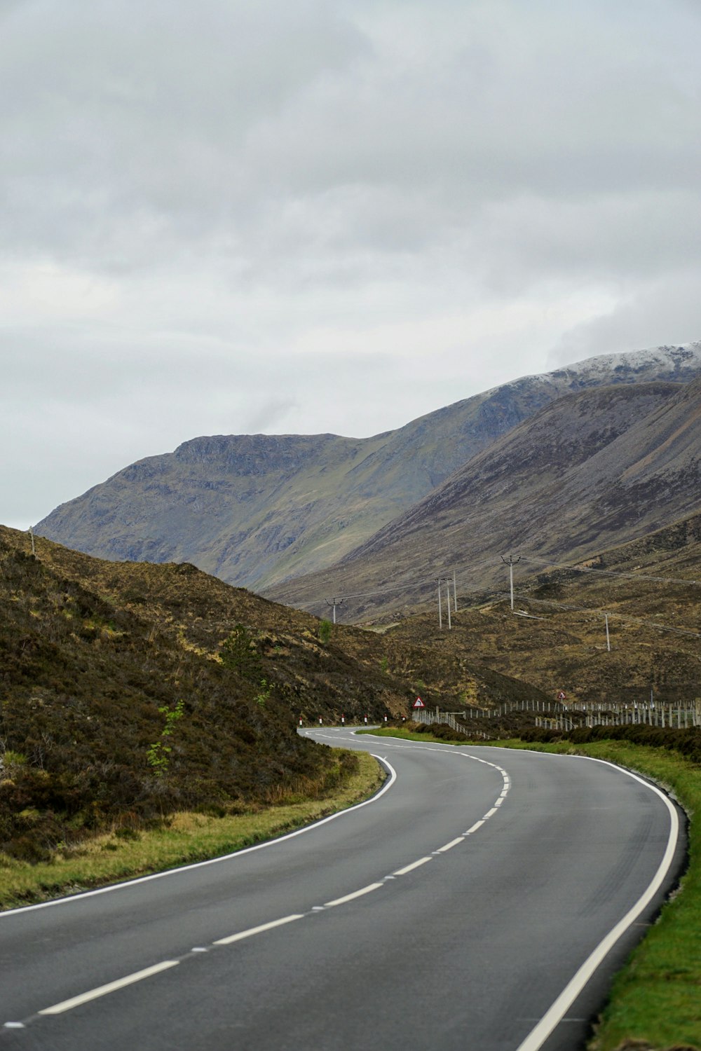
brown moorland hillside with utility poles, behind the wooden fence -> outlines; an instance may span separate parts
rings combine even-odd
[[[664,703],[701,697],[701,515],[576,565],[523,558],[515,570],[515,613],[508,572],[498,593],[459,600],[450,632],[447,619],[438,632],[432,603],[383,635],[390,669],[413,646],[427,682],[454,682],[469,657],[473,672],[529,683],[549,700],[562,689],[572,704],[643,701],[651,691]],[[455,706],[459,691],[444,697]]]

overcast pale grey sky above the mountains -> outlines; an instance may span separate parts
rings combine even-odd
[[[0,521],[701,338],[698,0],[0,0]]]

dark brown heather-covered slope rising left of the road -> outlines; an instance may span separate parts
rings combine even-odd
[[[249,658],[224,666],[236,624]],[[312,617],[187,564],[115,565],[44,539],[34,557],[0,527],[0,849],[16,857],[321,784],[330,753],[296,734],[301,713],[404,705],[378,665],[322,645]]]

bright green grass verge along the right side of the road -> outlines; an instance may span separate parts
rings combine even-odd
[[[372,733],[447,744],[404,727]],[[591,1051],[701,1047],[701,767],[664,748],[624,741],[573,745],[490,741],[490,745],[605,759],[652,778],[671,790],[692,818],[689,866],[681,889],[633,951],[614,981]],[[479,747],[471,744],[470,747]],[[638,1043],[636,1043],[638,1042]]]

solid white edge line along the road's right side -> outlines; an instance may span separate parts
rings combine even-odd
[[[525,1039],[519,1044],[516,1051],[538,1051],[538,1049],[542,1047],[552,1031],[562,1019],[568,1009],[572,1006],[594,972],[600,966],[604,957],[609,954],[611,949],[613,949],[616,942],[625,933],[627,928],[635,923],[637,918],[643,909],[646,908],[659,890],[662,885],[662,881],[666,877],[669,866],[672,865],[675,850],[677,848],[677,841],[679,839],[679,816],[664,792],[660,791],[656,785],[650,784],[650,782],[638,777],[636,774],[633,774],[631,770],[623,769],[623,767],[617,766],[616,763],[610,763],[604,759],[595,759],[593,756],[577,756],[576,758],[587,759],[594,763],[603,763],[604,766],[613,766],[614,769],[627,775],[627,777],[633,778],[635,781],[639,781],[640,784],[645,786],[645,788],[650,788],[651,791],[654,791],[657,796],[659,796],[669,813],[669,837],[667,839],[667,845],[662,857],[662,861],[660,862],[657,872],[653,877],[653,880],[645,892],[638,899],[633,908],[628,909],[625,915],[619,920],[606,936],[599,942],[597,947],[587,956],[574,977],[568,982],[557,1000],[543,1014],[538,1025],[532,1029]]]

